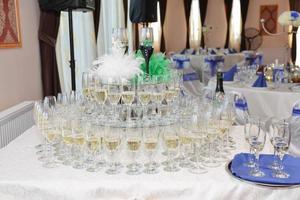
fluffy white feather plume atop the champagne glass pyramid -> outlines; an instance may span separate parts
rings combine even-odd
[[[142,59],[134,55],[123,55],[118,52],[107,54],[93,62],[92,71],[102,78],[114,80],[131,79],[141,74]]]

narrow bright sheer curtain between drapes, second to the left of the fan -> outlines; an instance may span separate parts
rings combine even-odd
[[[190,13],[190,47],[198,48],[201,45],[201,16],[199,0],[192,0],[191,13]]]

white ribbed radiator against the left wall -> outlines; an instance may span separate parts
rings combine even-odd
[[[0,112],[0,148],[29,129],[33,124],[34,102],[25,101]]]

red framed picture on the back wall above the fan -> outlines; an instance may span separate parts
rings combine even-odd
[[[277,33],[278,5],[260,6],[260,18],[265,19],[265,27],[270,33]],[[262,35],[267,35],[260,24]]]

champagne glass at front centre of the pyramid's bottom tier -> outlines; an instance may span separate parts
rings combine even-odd
[[[127,165],[129,175],[140,174],[141,164],[136,161],[136,157],[140,151],[142,139],[142,130],[140,128],[126,128],[126,144],[132,163]]]

